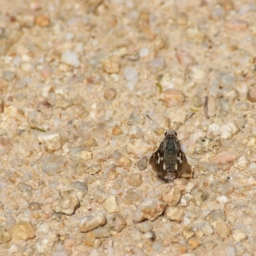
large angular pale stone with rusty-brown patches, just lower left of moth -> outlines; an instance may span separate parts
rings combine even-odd
[[[163,213],[165,208],[166,203],[164,202],[157,199],[146,199],[133,212],[134,221],[156,220],[156,218]]]

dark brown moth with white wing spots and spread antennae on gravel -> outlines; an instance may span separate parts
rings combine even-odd
[[[189,118],[191,118],[191,116],[194,114],[195,113],[192,113]],[[150,116],[145,116],[156,123]],[[184,123],[186,123],[189,118],[187,118]],[[161,125],[159,126],[161,127]],[[154,152],[154,154],[152,154],[149,160],[153,170],[164,180],[168,180],[170,184],[172,184],[173,179],[176,179],[177,177],[192,177],[191,167],[188,163],[187,157],[180,148],[177,133],[174,130],[164,130],[166,131],[164,133],[164,140],[161,142],[159,148],[156,150],[156,152]]]

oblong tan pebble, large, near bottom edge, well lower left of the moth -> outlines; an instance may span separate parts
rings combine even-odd
[[[102,212],[93,212],[92,214],[87,214],[81,219],[79,230],[80,232],[85,233],[97,227],[103,226],[106,223],[107,219]]]

